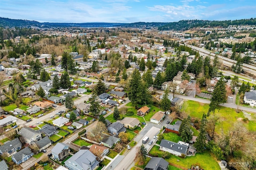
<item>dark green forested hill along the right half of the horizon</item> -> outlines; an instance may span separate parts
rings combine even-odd
[[[223,27],[228,25],[256,25],[256,18],[242,20],[225,20],[225,21],[209,21],[209,20],[181,20],[178,22],[170,22],[159,26],[158,30],[188,30],[194,27]]]

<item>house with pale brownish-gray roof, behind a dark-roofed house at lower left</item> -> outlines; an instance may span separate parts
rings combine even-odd
[[[22,127],[17,134],[22,136],[24,142],[28,144],[35,143],[42,139],[41,133],[31,129],[30,127]]]

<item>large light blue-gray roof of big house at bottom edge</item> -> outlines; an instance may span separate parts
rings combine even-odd
[[[94,164],[91,164],[95,160]],[[82,169],[87,170],[89,166],[93,169],[99,162],[96,160],[96,156],[90,152],[90,150],[79,150],[73,156],[71,156],[65,163],[68,161],[74,161]]]

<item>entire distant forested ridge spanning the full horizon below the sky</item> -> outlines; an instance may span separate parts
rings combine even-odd
[[[174,30],[185,31],[194,27],[223,27],[229,25],[256,25],[256,18],[242,20],[225,20],[225,21],[210,21],[210,20],[181,20],[178,22],[135,22],[135,23],[50,23],[38,22],[30,20],[14,20],[10,18],[0,17],[0,27],[134,27],[134,28],[152,28],[158,27],[158,30]]]

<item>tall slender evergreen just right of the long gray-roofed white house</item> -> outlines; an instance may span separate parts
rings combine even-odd
[[[204,149],[206,149],[206,114],[203,114],[201,123],[200,123],[200,133],[198,137],[196,138],[196,142],[194,144],[194,147],[197,151],[202,152]]]

